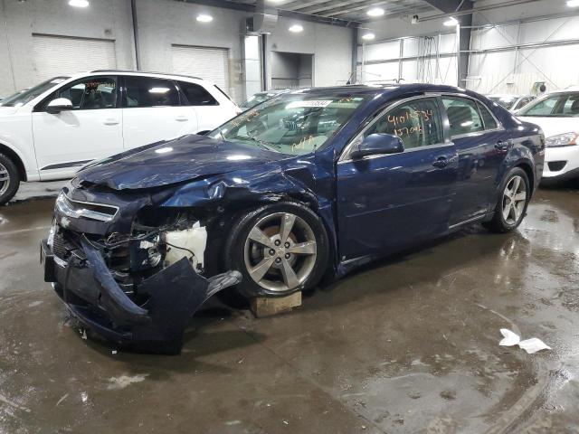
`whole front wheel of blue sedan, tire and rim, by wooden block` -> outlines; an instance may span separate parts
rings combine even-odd
[[[324,224],[299,203],[244,212],[225,243],[225,267],[242,273],[237,290],[243,297],[282,297],[315,288],[328,258]]]

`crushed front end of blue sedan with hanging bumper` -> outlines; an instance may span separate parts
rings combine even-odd
[[[204,277],[204,221],[156,208],[164,195],[69,184],[41,261],[44,279],[83,325],[117,344],[176,354],[191,316],[241,274]]]

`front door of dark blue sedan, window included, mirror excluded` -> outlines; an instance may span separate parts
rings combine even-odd
[[[441,101],[406,99],[380,115],[357,140],[375,133],[403,139],[404,152],[337,164],[339,250],[343,260],[383,255],[448,231],[458,172],[445,140]]]

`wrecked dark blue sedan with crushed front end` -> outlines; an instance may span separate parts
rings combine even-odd
[[[85,167],[44,276],[100,334],[177,352],[223,288],[283,296],[475,222],[513,231],[544,153],[539,127],[468,90],[301,90]]]

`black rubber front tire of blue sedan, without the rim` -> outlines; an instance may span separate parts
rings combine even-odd
[[[298,287],[290,288],[286,291],[272,291],[271,289],[262,288],[249,274],[244,259],[245,241],[257,222],[261,222],[262,219],[272,214],[283,212],[296,215],[311,228],[316,241],[316,259],[313,261],[313,268],[308,273],[307,278],[304,278]],[[240,295],[243,297],[280,297],[299,290],[308,290],[316,287],[327,269],[329,241],[324,224],[318,214],[300,203],[276,203],[243,212],[233,223],[232,231],[230,231],[225,243],[224,255],[225,269],[235,269],[242,273],[242,282],[236,287]],[[225,301],[227,302],[228,300]]]

